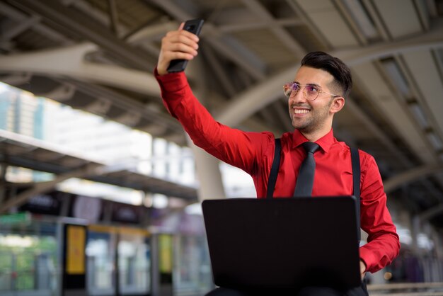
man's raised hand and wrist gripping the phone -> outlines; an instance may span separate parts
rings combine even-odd
[[[161,40],[161,50],[157,72],[160,75],[168,73],[169,63],[173,59],[193,59],[197,55],[198,37],[183,30],[184,23],[176,31],[170,31]]]

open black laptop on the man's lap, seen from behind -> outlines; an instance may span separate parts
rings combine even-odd
[[[353,196],[205,200],[202,210],[219,287],[361,284]]]

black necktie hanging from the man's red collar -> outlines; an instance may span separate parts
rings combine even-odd
[[[306,150],[306,158],[300,166],[294,196],[310,196],[312,194],[313,174],[316,171],[316,161],[313,159],[313,153],[320,147],[313,142],[304,142],[302,145]]]

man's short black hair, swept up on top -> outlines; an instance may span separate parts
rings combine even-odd
[[[338,57],[328,55],[326,52],[309,52],[301,59],[301,66],[322,69],[334,77],[333,89],[340,91],[344,98],[352,88],[351,70]]]

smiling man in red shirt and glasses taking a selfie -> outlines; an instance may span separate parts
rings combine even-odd
[[[193,59],[197,55],[196,35],[183,30],[183,24],[162,40],[156,79],[163,103],[177,118],[192,141],[210,154],[249,173],[258,198],[264,198],[275,151],[271,132],[243,132],[217,123],[192,95],[184,73],[168,74],[173,59]],[[311,52],[301,61],[293,82],[284,84],[294,132],[281,137],[282,152],[274,197],[292,196],[299,167],[306,156],[304,142],[319,148],[312,196],[352,195],[350,148],[333,137],[335,113],[345,106],[352,86],[350,69],[340,59],[324,52]],[[386,208],[381,176],[374,158],[359,151],[361,166],[361,227],[369,234],[360,247],[362,278],[367,271],[379,271],[398,255],[400,243],[391,215]],[[327,246],[326,246],[327,247]],[[215,290],[210,295],[245,295],[239,291]],[[299,295],[367,295],[365,285],[339,292],[326,288],[306,288]]]

